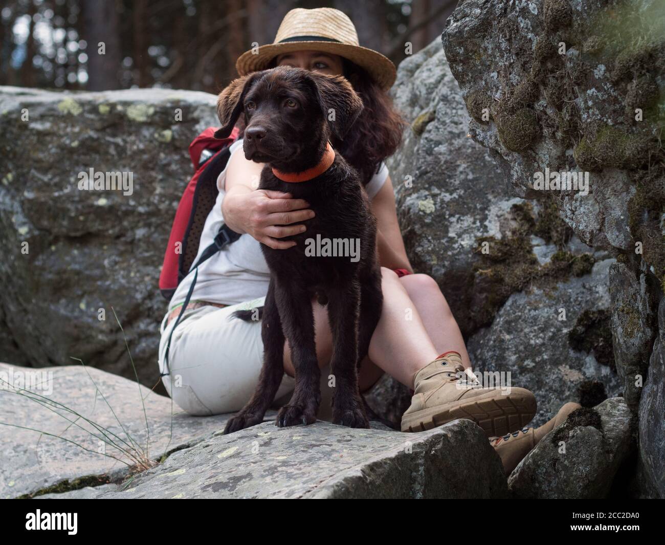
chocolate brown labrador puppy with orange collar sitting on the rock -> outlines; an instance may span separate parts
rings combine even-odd
[[[234,80],[217,100],[225,138],[245,115],[245,157],[265,163],[259,189],[305,199],[315,217],[307,230],[282,240],[288,250],[261,244],[271,271],[263,309],[263,369],[257,389],[226,425],[233,433],[263,421],[284,375],[285,338],[295,368],[295,391],[282,407],[280,427],[311,424],[321,392],[315,349],[313,297],[327,304],[332,331],[332,419],[366,428],[358,366],[367,355],[382,308],[376,257],[376,220],[356,170],[332,150],[362,110],[362,100],[341,76],[277,67]],[[247,319],[248,313],[237,313]]]

